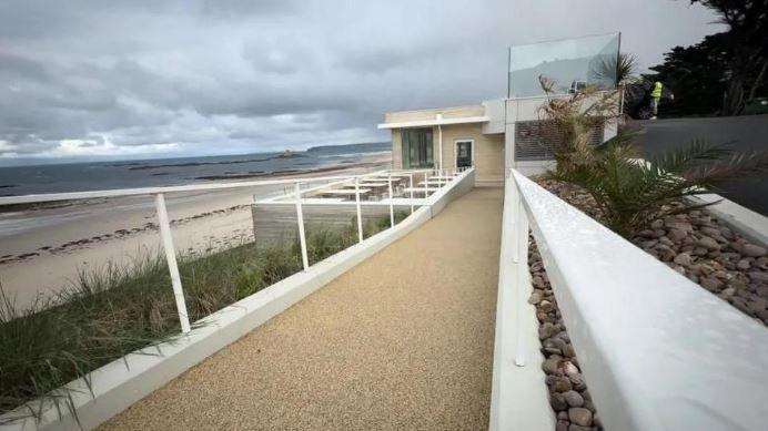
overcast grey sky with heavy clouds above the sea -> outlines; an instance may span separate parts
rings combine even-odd
[[[715,20],[687,0],[3,0],[0,164],[384,141],[385,111],[503,96],[509,44],[622,31],[647,68]]]

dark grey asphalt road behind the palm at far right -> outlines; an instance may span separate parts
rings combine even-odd
[[[736,151],[768,151],[768,115],[636,121],[645,154],[685,145],[700,137]],[[768,216],[768,173],[732,179],[716,193]]]

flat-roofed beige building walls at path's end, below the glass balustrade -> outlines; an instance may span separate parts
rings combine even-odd
[[[539,113],[546,100],[499,99],[478,105],[388,112],[378,129],[392,131],[395,168],[473,166],[478,186],[501,186],[506,167],[530,175],[554,166],[557,134]],[[593,131],[593,141],[597,144],[615,135],[616,124],[606,122]]]

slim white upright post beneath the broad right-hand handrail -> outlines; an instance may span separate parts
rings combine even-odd
[[[515,184],[515,187],[517,184]],[[515,365],[518,367],[525,366],[525,342],[521,329],[523,324],[522,315],[524,312],[525,305],[528,298],[526,297],[526,286],[528,284],[528,215],[525,212],[525,205],[523,204],[522,193],[517,191],[517,244],[514,248],[517,252],[517,274],[515,276],[515,327],[517,328],[517,349],[515,353]]]

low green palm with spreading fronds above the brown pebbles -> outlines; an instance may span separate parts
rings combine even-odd
[[[700,207],[687,203],[686,196],[768,166],[765,154],[737,154],[701,140],[645,161],[638,157],[633,137],[623,133],[594,147],[589,165],[550,172],[555,179],[589,193],[606,225],[627,238],[654,219]]]

